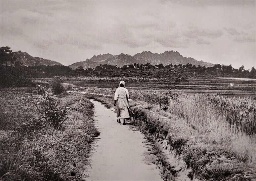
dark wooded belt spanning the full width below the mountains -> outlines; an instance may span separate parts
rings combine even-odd
[[[14,65],[8,66],[8,62]],[[10,65],[10,64],[9,64]],[[0,57],[0,84],[1,87],[14,87],[15,85],[34,86],[28,78],[44,77],[51,78],[54,76],[98,76],[98,77],[145,77],[145,78],[168,78],[175,82],[184,82],[195,76],[200,77],[239,77],[239,78],[254,78],[256,79],[256,70],[252,67],[250,70],[245,70],[242,65],[238,69],[232,65],[216,64],[213,67],[205,67],[200,64],[195,66],[191,63],[169,64],[169,65],[151,65],[150,63],[139,64],[134,63],[118,67],[117,65],[99,65],[95,68],[84,70],[78,67],[75,70],[67,66],[23,66],[13,56],[10,47],[1,47]]]

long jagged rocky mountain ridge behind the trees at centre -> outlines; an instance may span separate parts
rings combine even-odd
[[[139,63],[139,64],[146,64],[150,63],[151,65],[158,65],[162,63],[164,66],[169,65],[169,64],[176,64],[178,65],[179,63],[186,65],[187,63],[191,63],[192,65],[198,65],[200,64],[201,66],[205,67],[212,67],[214,64],[212,63],[207,63],[204,61],[197,61],[194,58],[191,57],[183,57],[179,52],[174,52],[174,51],[166,51],[161,54],[153,54],[150,51],[145,51],[142,53],[135,54],[133,56],[129,54],[119,54],[119,55],[112,55],[112,54],[103,54],[103,55],[94,55],[90,59],[86,59],[85,61],[80,61],[73,63],[69,65],[69,68],[76,69],[78,67],[82,67],[83,69],[87,68],[95,68],[97,65],[100,64],[107,64],[109,63],[110,65],[117,65],[119,67],[122,67],[124,65],[129,65],[129,64],[134,64],[134,63]]]

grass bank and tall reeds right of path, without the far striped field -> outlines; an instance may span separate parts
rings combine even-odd
[[[105,89],[106,90],[106,89]],[[87,89],[94,93],[111,94],[112,89]],[[175,179],[180,170],[166,163],[160,143],[165,149],[191,168],[190,178],[200,180],[255,179],[256,105],[248,98],[226,98],[202,94],[183,94],[170,100],[167,111],[139,99],[130,103],[135,112],[131,123],[137,126],[154,146],[158,164],[165,180]],[[97,96],[98,101],[112,106],[109,96]],[[137,97],[136,97],[137,96]],[[168,155],[167,155],[168,157]]]

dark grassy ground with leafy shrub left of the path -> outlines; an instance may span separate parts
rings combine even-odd
[[[82,94],[36,92],[0,90],[0,180],[81,180],[98,134],[93,104]]]

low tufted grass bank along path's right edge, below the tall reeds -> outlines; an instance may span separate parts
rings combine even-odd
[[[95,93],[87,94],[87,98],[99,100],[108,108],[112,107],[112,99],[108,96],[97,96]],[[164,180],[184,180],[180,179],[181,175],[199,180],[255,180],[255,135],[248,137],[228,134],[223,137],[218,134],[223,141],[211,141],[214,138],[211,135],[215,132],[202,134],[179,116],[169,111],[160,111],[159,106],[143,101],[131,101],[130,106],[135,112],[131,124],[145,134],[155,148],[154,152],[159,151],[156,152],[157,164],[160,163]],[[161,154],[162,151],[157,146],[163,141],[167,141],[165,154]],[[189,174],[184,175],[186,166],[183,167],[185,170],[180,170],[179,162],[177,165],[176,161],[172,161],[173,153],[176,155],[175,158],[185,161],[192,169]],[[164,155],[167,159],[161,159]]]

